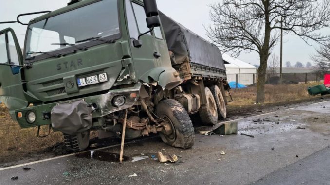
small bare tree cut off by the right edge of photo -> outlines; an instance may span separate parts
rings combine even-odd
[[[330,43],[317,49],[311,59],[315,62],[313,67],[315,72],[327,73],[330,70]]]

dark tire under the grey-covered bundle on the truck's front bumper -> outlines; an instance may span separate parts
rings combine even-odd
[[[90,131],[77,133],[75,135],[68,135],[63,133],[63,136],[65,147],[69,151],[83,151],[90,145]]]

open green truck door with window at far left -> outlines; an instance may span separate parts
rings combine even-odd
[[[23,65],[22,50],[10,28],[0,31],[0,101],[5,103],[12,117],[15,109],[28,106],[21,82],[20,67]]]

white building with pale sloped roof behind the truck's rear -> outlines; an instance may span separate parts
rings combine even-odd
[[[257,67],[233,58],[226,53],[222,54],[222,58],[226,66],[228,82],[236,82],[237,78],[238,83],[243,85],[256,83],[257,75],[255,74],[257,73]]]

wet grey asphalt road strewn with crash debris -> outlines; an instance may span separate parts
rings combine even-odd
[[[116,158],[119,147],[111,147],[1,168],[0,184],[330,184],[330,102],[244,118],[238,121],[238,129],[237,135],[225,137],[196,134],[189,150],[169,147],[159,138],[127,144],[124,153],[128,159],[122,165]],[[134,156],[159,151],[180,155],[180,162],[131,162]],[[13,176],[18,179],[12,180]]]

